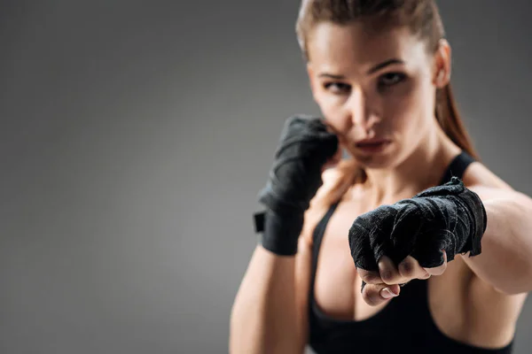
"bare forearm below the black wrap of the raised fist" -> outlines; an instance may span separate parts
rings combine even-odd
[[[307,342],[309,237],[295,256],[257,246],[231,312],[231,354],[303,353]]]

